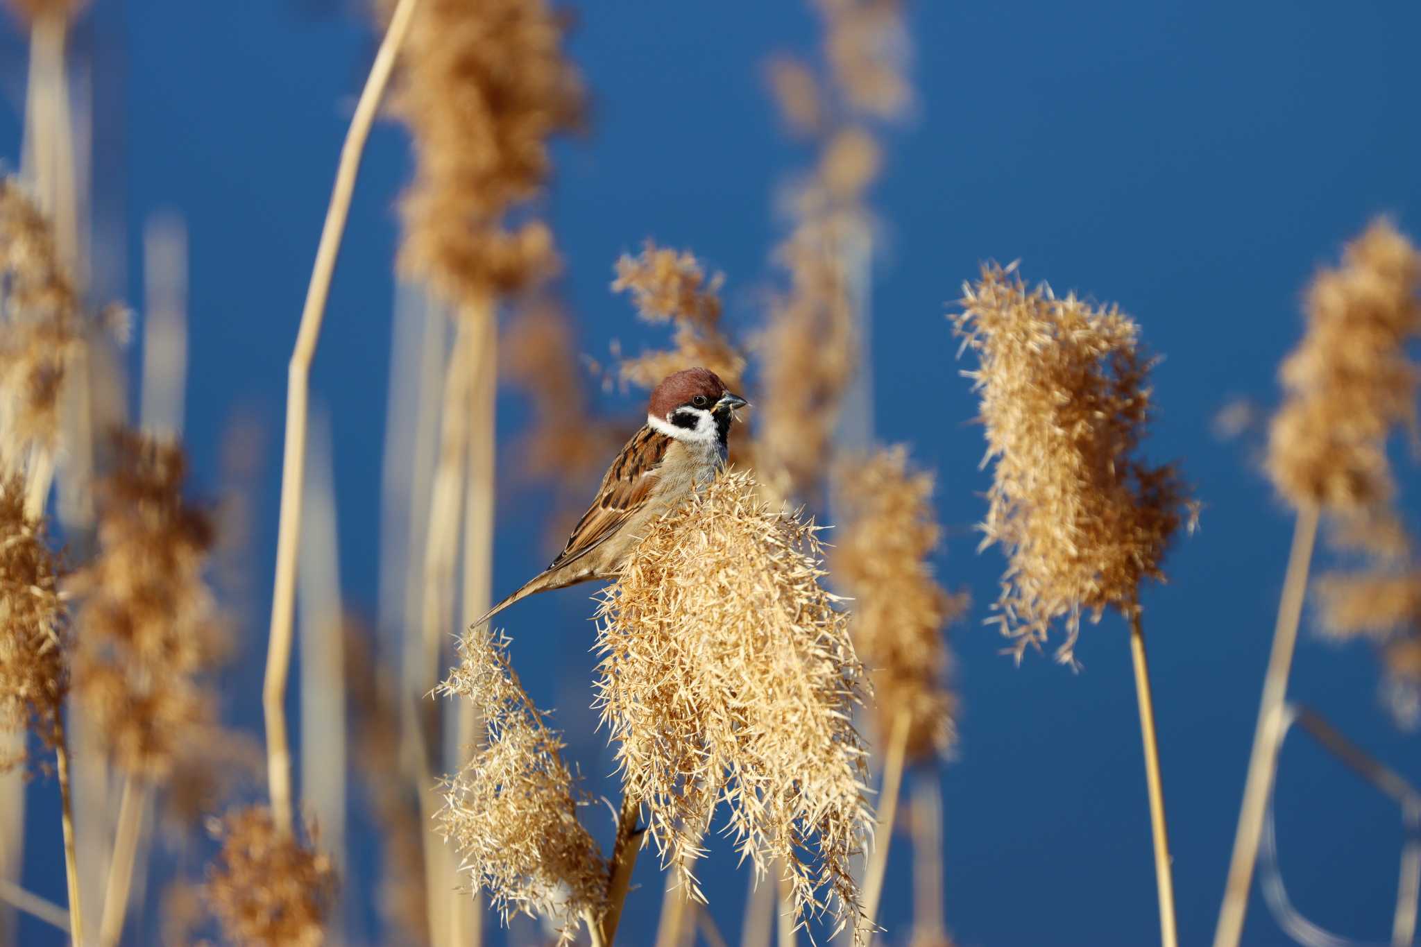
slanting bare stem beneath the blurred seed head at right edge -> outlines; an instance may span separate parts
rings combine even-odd
[[[1293,525],[1293,547],[1287,557],[1287,575],[1283,579],[1283,595],[1277,605],[1273,649],[1269,653],[1268,672],[1263,676],[1263,699],[1258,710],[1258,724],[1253,728],[1253,750],[1249,754],[1248,778],[1243,782],[1243,805],[1239,809],[1238,831],[1233,836],[1229,879],[1223,889],[1219,923],[1214,931],[1214,947],[1238,947],[1239,937],[1243,936],[1243,917],[1248,913],[1249,887],[1253,883],[1253,866],[1258,863],[1258,845],[1263,835],[1269,789],[1273,785],[1273,774],[1277,771],[1277,750],[1282,744],[1279,724],[1283,700],[1287,697],[1287,676],[1293,666],[1297,623],[1307,592],[1307,566],[1313,558],[1316,538],[1317,508],[1304,507],[1299,510],[1297,521]]]

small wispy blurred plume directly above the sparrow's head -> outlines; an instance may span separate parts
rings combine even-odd
[[[745,356],[720,329],[720,285],[725,277],[706,277],[689,251],[658,247],[648,240],[635,257],[617,261],[615,292],[630,292],[637,314],[651,324],[676,327],[675,348],[642,352],[624,359],[622,381],[655,388],[665,376],[686,368],[709,368],[737,390]]]

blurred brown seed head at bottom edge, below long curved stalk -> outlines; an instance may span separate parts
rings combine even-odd
[[[222,850],[203,900],[227,940],[250,947],[318,947],[335,899],[331,860],[277,829],[267,806],[229,812],[216,826]]]

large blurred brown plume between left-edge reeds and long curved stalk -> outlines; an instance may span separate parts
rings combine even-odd
[[[203,572],[212,520],[183,497],[186,459],[173,442],[115,434],[98,486],[98,555],[75,576],[75,686],[115,765],[162,781],[192,731],[210,726],[200,676],[226,647]]]

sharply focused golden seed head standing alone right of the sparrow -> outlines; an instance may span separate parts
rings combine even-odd
[[[993,620],[1017,656],[1063,620],[1056,655],[1070,662],[1081,612],[1137,608],[1141,579],[1164,579],[1169,540],[1192,522],[1177,469],[1137,456],[1152,361],[1114,307],[1027,291],[996,264],[963,291],[952,319],[979,361],[963,375],[982,398],[992,464],[980,530],[1009,559]]]

